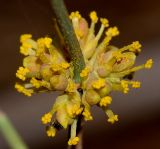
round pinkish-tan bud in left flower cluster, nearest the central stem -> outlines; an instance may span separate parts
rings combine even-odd
[[[53,89],[62,91],[67,88],[68,80],[64,75],[55,75],[50,78],[50,83]]]

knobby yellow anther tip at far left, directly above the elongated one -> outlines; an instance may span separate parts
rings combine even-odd
[[[16,77],[25,81],[26,77],[25,75],[29,72],[28,68],[24,68],[24,67],[19,67],[19,69],[16,72]]]

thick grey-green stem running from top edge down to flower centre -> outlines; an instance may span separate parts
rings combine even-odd
[[[69,19],[68,11],[63,0],[51,0],[52,8],[55,12],[59,28],[68,47],[68,51],[74,66],[74,80],[81,82],[80,72],[85,66],[83,54],[76,38],[72,23]]]

